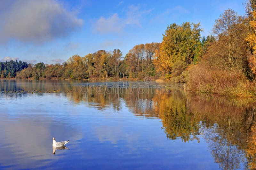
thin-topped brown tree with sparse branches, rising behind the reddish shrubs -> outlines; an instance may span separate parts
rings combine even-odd
[[[228,9],[215,21],[213,33],[217,36],[216,55],[225,67],[245,70],[248,54],[245,37],[247,27],[244,18],[235,11]]]

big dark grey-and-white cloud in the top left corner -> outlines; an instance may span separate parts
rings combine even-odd
[[[74,11],[55,0],[0,1],[0,39],[45,42],[64,37],[82,26]]]

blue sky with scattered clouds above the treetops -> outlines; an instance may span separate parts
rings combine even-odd
[[[0,1],[0,60],[48,64],[119,48],[125,55],[141,43],[161,42],[168,24],[201,23],[202,35],[231,8],[244,15],[244,0],[233,1]]]

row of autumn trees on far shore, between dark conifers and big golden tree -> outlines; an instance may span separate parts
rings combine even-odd
[[[148,43],[134,46],[123,57],[120,49],[113,51],[99,50],[85,56],[73,55],[62,64],[29,64],[17,72],[18,79],[120,79],[130,77],[143,79],[155,76],[153,64],[160,43]]]

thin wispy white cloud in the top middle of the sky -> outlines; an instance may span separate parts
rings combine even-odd
[[[114,13],[109,18],[100,17],[93,24],[93,31],[101,34],[106,33],[122,33],[127,25],[141,26],[140,18],[147,15],[152,10],[140,10],[140,6],[128,6],[124,18],[120,18],[117,13]]]

